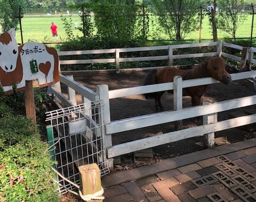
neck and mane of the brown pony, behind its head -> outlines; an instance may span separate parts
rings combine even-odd
[[[196,66],[194,66],[192,69],[187,70],[183,75],[183,80],[188,79],[199,79],[204,77],[209,77],[209,71],[207,69],[208,61],[205,61],[203,63],[200,63]]]

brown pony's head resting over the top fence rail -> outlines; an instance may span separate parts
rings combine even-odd
[[[231,76],[225,69],[226,63],[222,57],[212,57],[207,63],[210,77],[216,79],[226,85],[231,82]]]

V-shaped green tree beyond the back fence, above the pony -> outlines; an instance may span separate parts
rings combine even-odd
[[[198,28],[198,0],[151,0],[158,20],[170,39],[181,40]],[[175,35],[175,36],[174,36]]]

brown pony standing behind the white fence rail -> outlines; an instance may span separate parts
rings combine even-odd
[[[153,85],[157,83],[173,82],[173,77],[180,75],[183,80],[189,79],[198,79],[204,77],[212,77],[226,85],[230,83],[231,77],[230,74],[225,69],[225,61],[222,57],[212,57],[210,60],[203,62],[197,66],[194,66],[193,69],[184,71],[176,68],[162,68],[151,70],[144,80],[144,86]],[[204,86],[195,86],[189,88],[183,88],[183,96],[190,96],[192,106],[199,105],[201,97],[206,91],[207,85]],[[158,107],[163,110],[161,104],[161,96],[165,91],[153,92],[149,94],[144,94],[146,99],[155,99],[155,109],[158,110]],[[168,92],[173,92],[170,90]]]

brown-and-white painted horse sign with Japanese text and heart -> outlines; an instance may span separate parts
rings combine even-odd
[[[59,57],[54,48],[40,43],[25,43],[18,47],[14,28],[0,35],[0,82],[6,94],[24,90],[26,81],[38,80],[39,87],[60,81]]]

